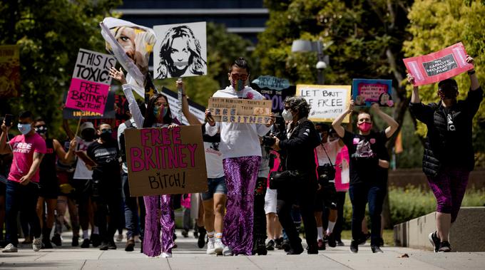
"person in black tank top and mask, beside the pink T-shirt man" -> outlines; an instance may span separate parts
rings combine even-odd
[[[66,153],[56,139],[51,139],[47,136],[47,125],[44,120],[38,118],[34,123],[36,133],[46,140],[46,155],[42,159],[39,167],[39,200],[37,201],[37,215],[42,228],[42,247],[44,249],[52,249],[51,241],[49,240],[51,230],[54,224],[54,210],[57,206],[57,197],[59,194],[59,183],[56,175],[56,158],[58,157],[63,162],[73,160],[74,151],[76,148],[76,140],[71,141],[68,152]],[[46,213],[44,219],[44,204],[46,204]],[[43,222],[45,221],[45,222]],[[74,229],[73,229],[74,232]]]

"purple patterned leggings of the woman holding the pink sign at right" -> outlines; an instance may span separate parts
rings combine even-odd
[[[436,212],[451,214],[456,220],[468,184],[469,170],[459,167],[442,167],[436,177],[428,177],[428,184],[436,197]]]

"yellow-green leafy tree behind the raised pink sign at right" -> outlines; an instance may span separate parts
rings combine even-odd
[[[459,0],[418,0],[409,11],[409,33],[413,38],[404,42],[407,57],[419,56],[439,51],[454,43],[463,42],[466,52],[475,59],[476,75],[479,81],[485,81],[485,1]],[[466,73],[455,77],[459,85],[459,99],[464,99],[470,87]],[[437,85],[419,87],[419,96],[423,103],[437,102]],[[409,92],[412,87],[408,87]],[[473,142],[479,159],[477,163],[485,165],[485,102],[481,103],[474,118]],[[426,134],[426,125],[418,123],[417,133]]]

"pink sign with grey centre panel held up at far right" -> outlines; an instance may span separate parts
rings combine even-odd
[[[466,51],[461,42],[436,53],[404,58],[403,61],[414,77],[415,86],[443,81],[474,68],[471,63],[466,63]]]

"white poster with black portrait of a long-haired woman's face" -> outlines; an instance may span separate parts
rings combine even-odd
[[[207,75],[205,21],[153,26],[157,41],[153,48],[153,78]]]

